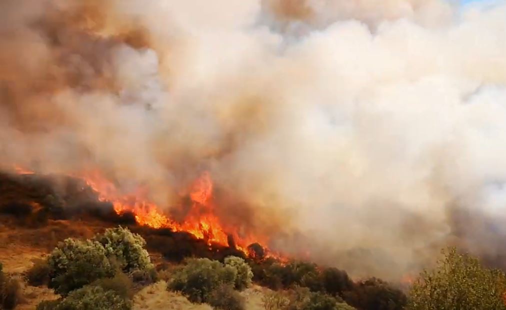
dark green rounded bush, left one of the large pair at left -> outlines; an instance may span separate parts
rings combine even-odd
[[[90,240],[65,239],[51,253],[48,265],[50,287],[63,295],[115,274],[104,247]]]

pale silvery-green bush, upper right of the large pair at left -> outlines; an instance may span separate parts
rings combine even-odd
[[[107,229],[103,234],[95,236],[94,241],[102,244],[107,257],[114,257],[124,272],[154,268],[149,253],[144,248],[146,241],[127,228],[120,226]]]

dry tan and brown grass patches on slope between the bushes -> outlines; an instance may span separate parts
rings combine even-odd
[[[103,232],[111,224],[102,222],[49,220],[47,226],[37,229],[20,227],[0,215],[0,262],[4,271],[21,285],[22,303],[16,310],[34,310],[43,300],[57,299],[59,296],[52,289],[34,287],[26,283],[24,273],[33,266],[33,261],[46,258],[59,241],[65,238],[91,238]],[[170,278],[176,264],[167,263],[160,253],[150,253],[155,265],[165,270],[166,278]],[[163,267],[162,267],[163,264]],[[142,288],[134,296],[134,310],[212,310],[207,304],[193,304],[181,294],[169,292],[165,281],[159,281]],[[240,294],[246,299],[247,310],[264,309],[262,298],[266,288],[252,286]]]

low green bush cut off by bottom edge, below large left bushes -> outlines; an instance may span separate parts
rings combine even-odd
[[[130,310],[132,302],[118,296],[114,291],[100,286],[87,285],[72,291],[65,299],[43,301],[37,310]]]

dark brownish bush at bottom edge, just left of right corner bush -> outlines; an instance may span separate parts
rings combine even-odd
[[[407,303],[406,295],[385,281],[371,278],[354,285],[343,294],[344,300],[363,310],[402,310]]]

